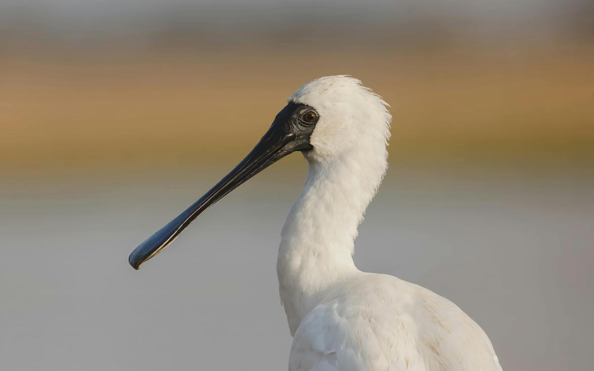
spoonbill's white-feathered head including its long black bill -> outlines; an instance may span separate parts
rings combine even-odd
[[[390,137],[390,113],[380,96],[346,75],[310,81],[289,97],[264,137],[235,169],[202,198],[141,243],[128,261],[135,269],[153,258],[208,207],[266,167],[295,151],[309,163],[331,164],[350,158],[383,176]],[[353,155],[354,154],[354,155]],[[376,169],[376,170],[374,170]]]

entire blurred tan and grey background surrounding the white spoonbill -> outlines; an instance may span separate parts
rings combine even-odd
[[[127,258],[333,74],[393,114],[358,267],[453,300],[504,370],[591,369],[593,42],[590,0],[0,0],[2,369],[286,369],[299,154]]]

